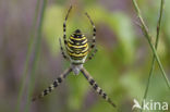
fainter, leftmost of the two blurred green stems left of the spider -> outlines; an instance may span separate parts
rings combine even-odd
[[[35,17],[34,17],[33,28],[32,28],[32,32],[31,32],[31,37],[29,37],[31,39],[29,39],[29,43],[28,43],[26,61],[25,61],[25,64],[24,64],[24,71],[22,73],[22,83],[21,83],[21,87],[20,87],[20,90],[19,90],[15,112],[20,112],[21,100],[22,100],[22,97],[23,97],[23,94],[24,94],[24,87],[25,87],[25,83],[26,83],[26,78],[27,78],[27,71],[28,71],[28,64],[29,64],[29,58],[31,58],[31,54],[33,52],[33,43],[34,43],[35,33],[36,33],[35,29],[36,29],[36,22],[37,22],[37,17],[38,17],[39,1],[40,0],[37,0],[37,3],[36,3]]]

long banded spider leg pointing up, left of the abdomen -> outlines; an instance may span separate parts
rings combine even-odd
[[[64,39],[64,45],[66,46],[66,21],[68,21],[68,16],[70,14],[72,10],[72,5],[70,7],[68,13],[66,13],[66,16],[65,16],[65,20],[64,20],[64,23],[63,23],[63,39]]]

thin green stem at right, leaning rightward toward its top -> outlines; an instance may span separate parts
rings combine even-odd
[[[158,41],[159,41],[159,34],[160,34],[160,27],[161,27],[161,18],[162,18],[162,13],[163,13],[163,7],[165,7],[165,0],[161,0],[160,12],[159,12],[159,20],[158,20],[158,23],[157,23],[157,36],[156,36],[156,43],[155,43],[155,48],[156,49],[158,48]],[[145,89],[145,94],[144,94],[143,100],[147,99],[148,87],[149,87],[149,84],[150,84],[150,78],[153,76],[154,69],[155,69],[155,55],[153,55],[151,69],[150,69],[150,72],[149,72],[149,77],[148,77],[148,80],[147,80],[147,86],[146,86],[146,89]],[[142,103],[142,108],[143,108],[143,103]],[[143,110],[141,110],[141,112],[143,112]]]

